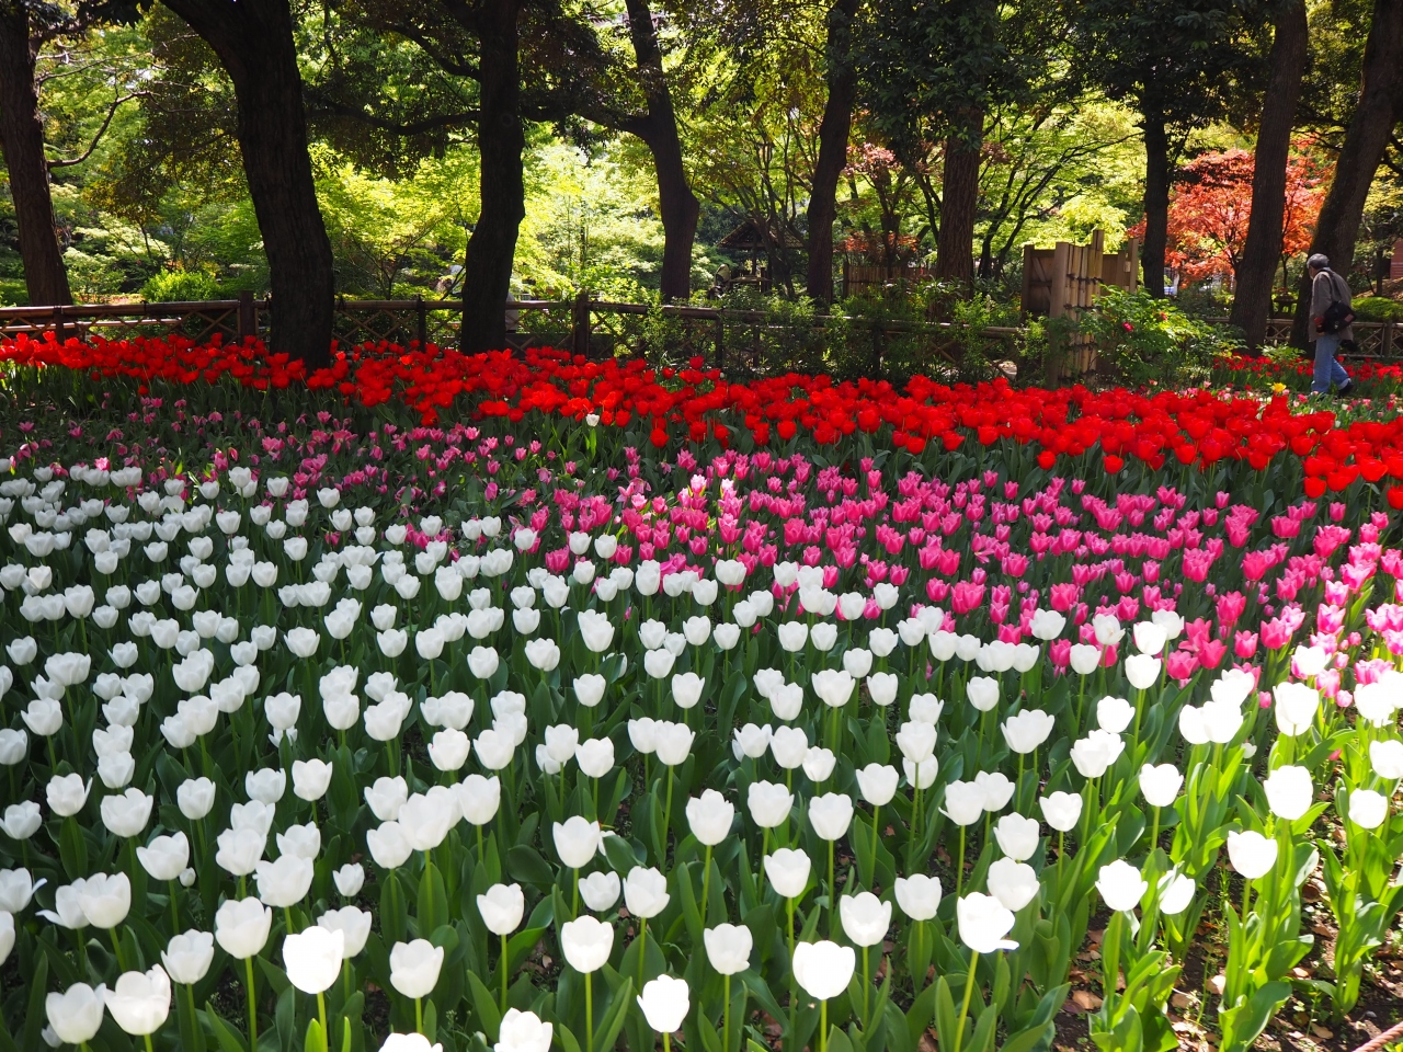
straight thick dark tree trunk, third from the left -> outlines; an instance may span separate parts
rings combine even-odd
[[[526,217],[521,115],[521,0],[488,0],[478,17],[480,116],[477,149],[481,189],[477,226],[467,241],[463,282],[463,351],[506,346],[506,293],[512,283],[516,233]]]

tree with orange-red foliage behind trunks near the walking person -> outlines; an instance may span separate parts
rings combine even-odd
[[[1166,262],[1186,283],[1215,274],[1232,281],[1236,274],[1251,222],[1254,166],[1256,157],[1247,150],[1225,150],[1201,154],[1179,170],[1169,202]],[[1329,166],[1310,144],[1298,143],[1287,161],[1282,259],[1310,247],[1327,177]],[[1143,220],[1129,233],[1143,237]]]

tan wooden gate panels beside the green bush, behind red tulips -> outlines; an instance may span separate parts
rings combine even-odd
[[[1139,241],[1129,238],[1121,251],[1106,254],[1106,234],[1092,231],[1090,244],[1058,241],[1052,248],[1023,245],[1023,317],[1069,318],[1090,307],[1106,286],[1127,292],[1139,288]],[[1054,348],[1048,362],[1048,383],[1062,373],[1078,375],[1096,367],[1096,348],[1089,337],[1069,335]]]

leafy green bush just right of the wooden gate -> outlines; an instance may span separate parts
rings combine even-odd
[[[1195,383],[1226,342],[1212,325],[1143,289],[1110,289],[1096,307],[1082,316],[1078,331],[1096,339],[1099,370],[1129,387]]]

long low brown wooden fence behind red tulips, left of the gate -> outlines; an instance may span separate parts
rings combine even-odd
[[[108,339],[178,334],[195,341],[267,337],[269,299],[178,303],[104,303],[0,307],[0,338],[52,331],[59,338]],[[335,304],[334,335],[342,344],[394,342],[457,346],[456,300],[347,300]],[[588,356],[643,356],[659,365],[702,358],[732,375],[790,370],[901,375],[954,369],[964,349],[982,342],[991,358],[1017,355],[1020,328],[992,327],[974,339],[951,323],[897,321],[836,314],[777,317],[766,311],[572,300],[521,300],[506,307],[513,349],[558,346]]]

